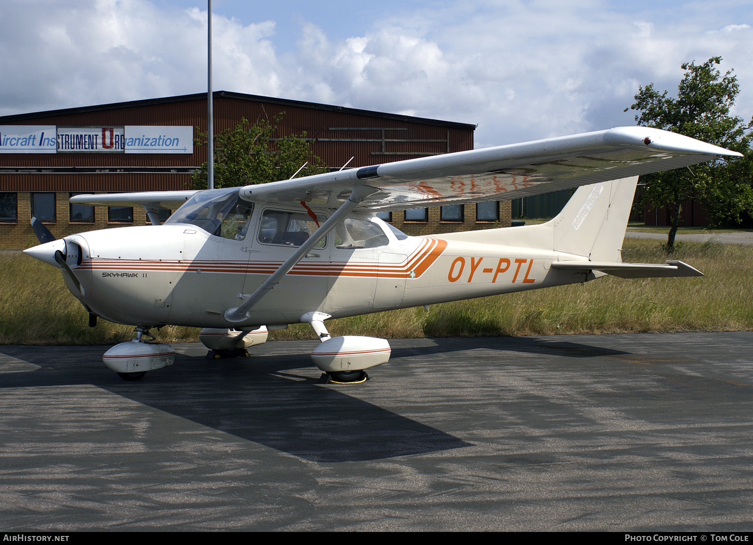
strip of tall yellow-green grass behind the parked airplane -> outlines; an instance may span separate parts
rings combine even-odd
[[[455,301],[327,322],[332,335],[383,338],[556,335],[621,332],[741,331],[753,329],[753,248],[686,242],[672,256],[701,278],[623,280],[539,289]],[[657,241],[627,239],[626,262],[663,262]],[[87,313],[49,265],[20,254],[0,255],[0,344],[115,344],[133,327]],[[273,339],[314,338],[309,325],[274,331]],[[197,341],[198,330],[166,327],[163,342]]]

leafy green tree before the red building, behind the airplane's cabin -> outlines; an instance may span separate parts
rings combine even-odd
[[[245,118],[240,120],[233,130],[225,129],[215,135],[215,187],[248,186],[255,183],[267,183],[287,180],[308,162],[299,176],[321,174],[328,171],[322,159],[312,155],[306,132],[300,136],[272,141],[277,129],[279,117],[273,123],[261,120],[251,125]],[[200,132],[194,143],[206,145],[208,134]],[[191,174],[194,189],[207,187],[207,163]]]

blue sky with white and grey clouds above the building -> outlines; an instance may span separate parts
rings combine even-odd
[[[753,116],[753,0],[212,2],[215,90],[477,124],[476,147],[634,125],[721,56]],[[204,2],[3,0],[0,115],[206,92]]]

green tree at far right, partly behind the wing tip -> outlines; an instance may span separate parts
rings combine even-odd
[[[743,153],[743,158],[717,161],[658,172],[641,177],[645,182],[642,204],[670,209],[671,227],[666,250],[672,253],[681,219],[681,201],[696,198],[709,213],[712,225],[740,223],[741,214],[753,212],[753,119],[745,125],[740,117],[730,116],[730,108],[739,93],[737,77],[728,70],[721,76],[716,65],[721,57],[712,57],[703,65],[685,62],[677,98],[658,92],[654,83],[639,87],[630,110],[640,112],[636,122],[697,138]],[[627,111],[628,108],[625,108]]]

